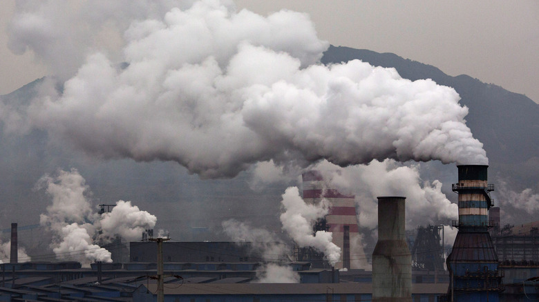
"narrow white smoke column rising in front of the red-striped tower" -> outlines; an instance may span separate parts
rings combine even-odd
[[[307,204],[299,195],[297,187],[287,188],[282,197],[283,230],[301,248],[312,247],[323,252],[325,259],[335,265],[341,258],[341,248],[332,243],[332,232],[316,231],[312,234],[316,220],[328,214],[328,201],[322,199],[319,204]]]

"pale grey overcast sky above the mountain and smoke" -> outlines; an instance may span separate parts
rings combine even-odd
[[[6,23],[15,1],[0,10],[0,94],[47,74],[31,53],[12,54]],[[539,1],[240,0],[266,15],[307,12],[319,37],[334,46],[393,52],[446,74],[469,74],[539,102]]]

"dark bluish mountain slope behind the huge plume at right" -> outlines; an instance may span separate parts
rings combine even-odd
[[[460,103],[469,108],[466,124],[473,136],[484,144],[491,168],[496,172],[514,172],[519,179],[535,176],[532,180],[536,182],[536,169],[539,169],[537,103],[498,85],[483,83],[466,74],[451,77],[434,66],[392,53],[330,46],[322,62],[341,63],[352,59],[360,59],[373,66],[395,68],[401,77],[412,81],[433,79],[440,85],[455,88],[462,98]]]

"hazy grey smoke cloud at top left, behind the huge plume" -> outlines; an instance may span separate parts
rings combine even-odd
[[[8,28],[15,54],[31,50],[55,77],[65,81],[95,50],[120,58],[123,33],[133,20],[157,18],[193,1],[17,1]]]

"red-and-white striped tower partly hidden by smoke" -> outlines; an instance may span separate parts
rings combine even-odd
[[[326,199],[329,202],[330,211],[325,219],[319,222],[316,230],[332,232],[332,242],[341,248],[341,260],[334,267],[349,270],[368,268],[367,257],[363,251],[358,230],[354,195],[341,194],[333,188],[328,188],[318,171],[305,172],[302,177],[305,203],[319,203],[321,199]],[[311,254],[316,256],[316,253],[311,252]]]

